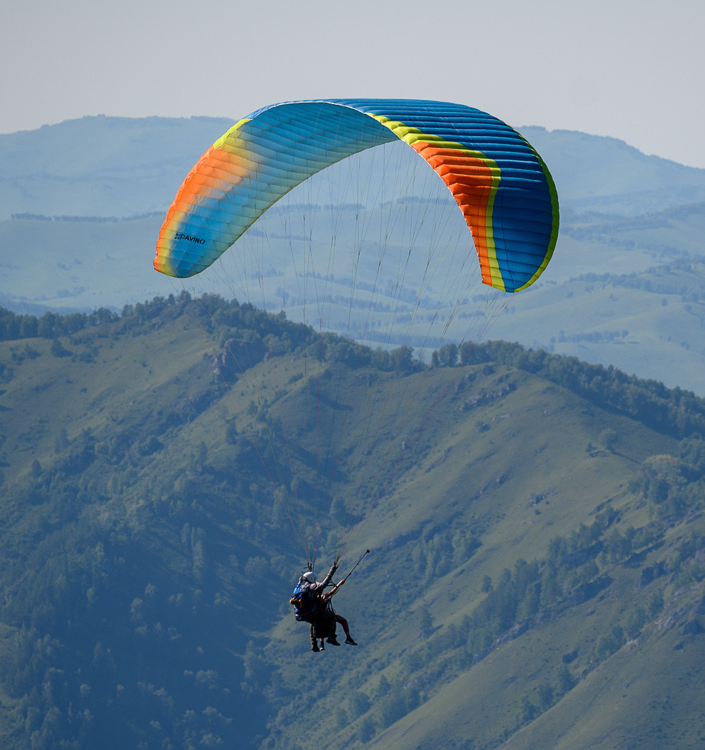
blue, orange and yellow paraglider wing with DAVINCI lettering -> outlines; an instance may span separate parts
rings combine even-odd
[[[541,157],[492,115],[404,99],[285,102],[239,121],[179,188],[154,268],[178,278],[201,272],[297,184],[398,138],[458,202],[484,283],[507,292],[532,284],[553,254],[559,223],[556,188]]]

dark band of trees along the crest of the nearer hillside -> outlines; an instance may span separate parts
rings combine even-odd
[[[303,323],[287,320],[284,313],[269,314],[249,303],[207,294],[196,300],[189,293],[155,297],[151,302],[125,305],[121,314],[107,308],[86,313],[60,315],[46,312],[41,317],[15,314],[0,308],[0,341],[23,338],[55,339],[74,335],[93,326],[123,320],[130,329],[153,320],[166,308],[192,304],[203,313],[202,326],[211,333],[220,333],[220,343],[229,340],[257,344],[259,361],[269,353],[277,356],[308,350],[320,359],[347,362],[351,367],[371,367],[387,371],[397,369],[404,374],[420,371],[425,364],[414,356],[413,347],[402,346],[393,351],[372,350],[334,333],[319,334]],[[232,353],[232,352],[231,352]],[[705,400],[690,391],[668,389],[656,380],[641,380],[627,375],[612,365],[589,365],[577,357],[560,356],[544,350],[527,350],[520,344],[488,341],[485,344],[466,342],[460,347],[446,344],[431,355],[430,367],[455,367],[497,363],[524,370],[563,386],[588,401],[643,422],[644,425],[671,437],[705,435]]]

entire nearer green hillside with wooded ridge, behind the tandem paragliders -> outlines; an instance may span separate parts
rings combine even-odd
[[[0,338],[4,748],[702,744],[694,395],[187,295]],[[340,573],[372,552],[335,598],[359,646],[314,654],[287,512],[324,500],[317,571],[341,527]]]

